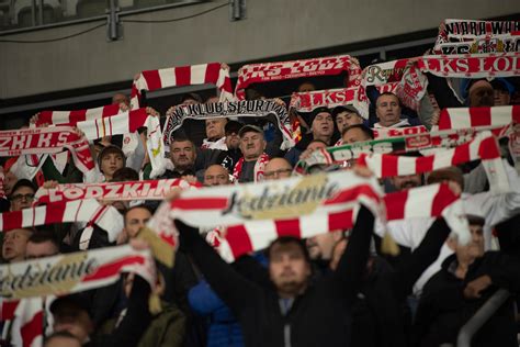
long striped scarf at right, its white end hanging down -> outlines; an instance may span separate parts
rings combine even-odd
[[[509,181],[500,158],[500,148],[489,131],[479,133],[466,144],[452,149],[438,149],[425,157],[405,157],[387,154],[361,154],[358,164],[368,166],[377,178],[431,172],[450,166],[481,159],[489,181],[497,193],[509,191]]]

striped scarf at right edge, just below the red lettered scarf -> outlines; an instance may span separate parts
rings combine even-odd
[[[439,130],[493,126],[500,130],[511,123],[520,123],[520,105],[494,108],[444,109],[439,117]]]

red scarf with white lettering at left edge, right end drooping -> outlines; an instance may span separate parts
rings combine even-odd
[[[75,165],[83,174],[91,174],[95,164],[89,142],[70,126],[36,127],[0,132],[0,156],[56,154],[68,149]]]

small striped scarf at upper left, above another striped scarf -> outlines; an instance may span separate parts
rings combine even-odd
[[[76,125],[78,122],[92,121],[120,113],[118,104],[76,111],[42,111],[38,113],[36,126],[43,124]]]

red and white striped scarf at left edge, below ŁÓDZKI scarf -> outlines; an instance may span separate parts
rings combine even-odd
[[[110,242],[114,242],[124,227],[123,216],[115,208],[89,199],[0,213],[0,232],[70,222],[93,223],[108,233]]]

